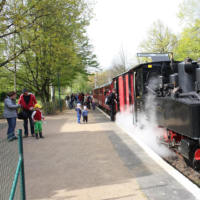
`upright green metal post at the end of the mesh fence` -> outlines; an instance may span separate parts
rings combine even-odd
[[[21,192],[21,200],[26,200],[22,129],[18,130],[18,145],[19,145],[19,156],[21,157],[21,160],[22,160],[22,162],[21,162],[21,168],[20,168],[20,192]]]

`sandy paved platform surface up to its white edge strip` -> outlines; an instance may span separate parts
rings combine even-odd
[[[24,139],[31,200],[197,200],[99,110],[46,118],[44,139]]]

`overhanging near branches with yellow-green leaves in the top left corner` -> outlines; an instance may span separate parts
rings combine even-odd
[[[42,2],[42,1],[41,1]],[[2,0],[0,3],[0,67],[17,59],[30,48],[36,38],[29,40],[26,45],[16,46],[15,51],[9,51],[9,46],[19,34],[27,33],[33,26],[37,26],[40,18],[47,13],[43,12],[38,0]]]

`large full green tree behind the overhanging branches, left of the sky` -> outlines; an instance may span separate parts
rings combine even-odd
[[[30,5],[29,5],[30,6]],[[50,100],[50,86],[68,85],[78,73],[87,74],[87,67],[96,67],[96,57],[86,36],[89,8],[83,0],[42,0],[37,14],[45,13],[29,31],[19,34],[17,45],[30,48],[18,57],[18,84]],[[32,12],[35,13],[35,8]],[[40,13],[41,12],[41,13]]]

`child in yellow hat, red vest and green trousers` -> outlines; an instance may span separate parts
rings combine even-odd
[[[34,131],[35,131],[35,137],[38,139],[38,133],[40,138],[44,138],[42,136],[42,119],[44,120],[44,117],[40,111],[41,106],[39,104],[35,104],[34,106],[35,111],[32,113],[32,119],[34,121]]]

